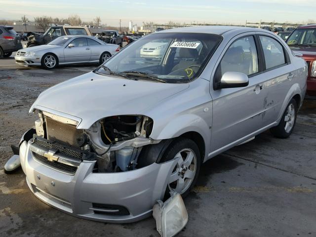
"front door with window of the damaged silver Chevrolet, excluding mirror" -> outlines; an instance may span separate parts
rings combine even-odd
[[[213,122],[210,154],[265,126],[263,112],[269,101],[266,101],[264,77],[259,74],[261,61],[255,39],[254,33],[234,38],[216,66],[213,76],[216,82],[226,72],[240,72],[248,76],[249,85],[217,90],[211,86]]]

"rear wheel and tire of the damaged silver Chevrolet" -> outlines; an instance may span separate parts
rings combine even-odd
[[[279,124],[270,129],[273,136],[277,138],[288,138],[295,126],[297,118],[297,104],[291,99],[282,115]]]

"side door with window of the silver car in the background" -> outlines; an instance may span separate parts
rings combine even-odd
[[[71,43],[74,47],[68,47]],[[88,46],[87,38],[77,38],[69,44],[64,49],[65,63],[90,61],[91,49]]]

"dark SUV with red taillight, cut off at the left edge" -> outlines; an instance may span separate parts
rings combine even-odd
[[[10,57],[11,54],[23,48],[20,36],[12,26],[0,26],[0,58]]]

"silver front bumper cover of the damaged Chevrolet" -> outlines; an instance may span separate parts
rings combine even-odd
[[[167,177],[177,160],[153,163],[118,173],[92,173],[95,161],[82,161],[75,175],[69,175],[38,162],[30,150],[31,142],[20,146],[21,166],[33,194],[45,203],[74,216],[128,223],[152,214],[157,199],[167,186]],[[94,205],[122,206],[128,215],[95,211]]]

